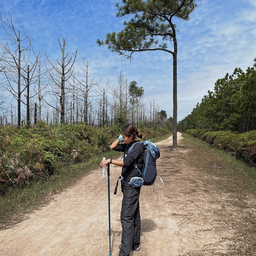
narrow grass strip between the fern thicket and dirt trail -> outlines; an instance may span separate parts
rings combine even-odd
[[[152,141],[157,142],[169,135],[157,136]],[[120,152],[105,152],[104,156],[118,157]],[[72,186],[94,168],[99,168],[102,154],[94,154],[87,162],[59,166],[56,172],[47,180],[29,182],[26,186],[16,187],[0,196],[0,229],[12,226],[26,218],[26,215],[52,200],[52,195],[64,188]]]

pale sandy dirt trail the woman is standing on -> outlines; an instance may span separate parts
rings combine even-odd
[[[182,139],[178,133],[178,140]],[[157,162],[159,178],[153,186],[144,186],[140,196],[142,236],[136,256],[178,256],[211,248],[225,252],[226,234],[211,223],[214,208],[220,207],[221,195],[207,191],[200,173],[181,160],[180,149],[170,153],[171,138],[158,143],[161,157]],[[118,256],[121,239],[120,209],[122,192],[113,195],[121,168],[110,167],[112,255]],[[212,198],[216,196],[214,202]],[[210,203],[211,202],[211,203]],[[209,211],[210,209],[210,211]],[[76,185],[57,194],[47,206],[14,227],[0,231],[1,256],[104,256],[108,244],[107,178],[100,168],[93,170]]]

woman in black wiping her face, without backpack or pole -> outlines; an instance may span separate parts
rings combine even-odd
[[[115,140],[110,148],[115,151],[124,152],[123,160],[112,160],[112,158],[102,161],[100,167],[105,164],[122,166],[121,189],[123,192],[121,224],[122,241],[119,246],[119,256],[129,256],[131,250],[140,250],[140,187],[130,185],[131,178],[138,177],[138,170],[134,164],[142,170],[144,147],[138,142],[137,138],[142,138],[142,133],[132,124],[127,124],[122,128],[121,135]],[[119,144],[124,142],[124,144]],[[136,143],[131,152],[129,148]]]

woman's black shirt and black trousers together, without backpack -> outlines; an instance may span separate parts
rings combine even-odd
[[[128,155],[128,150],[136,140],[129,144],[120,144],[113,150],[124,152],[124,167],[122,177],[130,179],[138,177],[139,173],[134,163],[142,170],[144,147],[137,143]],[[140,245],[140,188],[132,188],[128,182],[122,184],[123,200],[121,210],[122,241],[119,256],[129,256],[132,248]]]

